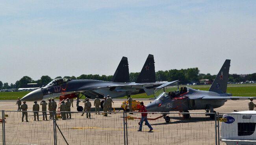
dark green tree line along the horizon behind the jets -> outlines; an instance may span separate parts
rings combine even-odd
[[[156,72],[156,81],[174,81],[179,80],[180,84],[187,84],[187,83],[196,83],[199,82],[200,79],[209,79],[209,81],[213,81],[216,77],[216,75],[211,75],[210,73],[203,74],[199,73],[200,71],[198,68],[187,68],[187,69],[181,69],[181,70],[166,70],[166,71],[158,71]],[[139,72],[130,73],[130,81],[135,82],[137,80],[137,77],[139,76]],[[101,81],[110,81],[112,79],[113,75],[86,75],[82,74],[79,77],[75,76],[64,76],[63,78],[67,79],[95,79],[95,80],[101,80]],[[56,78],[62,78],[61,76],[55,77]],[[43,86],[48,84],[53,79],[49,77],[48,75],[43,75],[38,80],[33,80],[31,77],[24,76],[19,81],[16,81],[15,84],[11,83],[2,83],[0,81],[0,89],[12,89],[12,88],[22,88],[26,86],[28,83],[37,83],[39,86]],[[228,81],[230,82],[244,82],[244,81],[256,81],[256,73],[248,74],[245,77],[241,77],[237,74],[231,74],[229,75]]]

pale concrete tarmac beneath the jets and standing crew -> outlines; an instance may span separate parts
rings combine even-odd
[[[116,108],[126,99],[113,99]],[[148,99],[136,99],[143,101],[144,104],[149,103]],[[93,100],[90,100],[93,107]],[[248,110],[249,100],[228,100],[224,106],[216,108],[216,112],[230,113],[234,110]],[[46,101],[47,102],[47,101]],[[56,100],[58,103],[58,100]],[[33,121],[33,112],[28,113],[29,122],[21,122],[21,112],[16,111],[16,101],[0,101],[0,110],[6,110],[6,143],[23,144],[23,145],[53,145],[53,121],[42,121],[41,112],[39,112],[39,120]],[[38,102],[40,104],[40,102]],[[33,102],[27,102],[28,111],[32,111]],[[124,144],[124,125],[122,111],[108,114],[104,117],[91,113],[91,119],[86,118],[86,113],[76,111],[76,101],[71,107],[72,119],[58,119],[57,124],[67,139],[69,145],[122,145]],[[80,102],[81,106],[84,106]],[[41,110],[41,106],[40,106]],[[116,110],[117,111],[117,110]],[[191,110],[191,113],[201,112],[205,110]],[[174,112],[176,113],[176,112]],[[2,114],[0,115],[2,118]],[[131,117],[140,117],[140,114],[128,114]],[[161,114],[148,114],[148,118],[154,119]],[[204,114],[191,114],[191,119],[183,119],[181,114],[169,114],[171,122],[166,123],[161,117],[156,120],[149,120],[154,128],[153,132],[147,132],[149,128],[143,125],[143,132],[137,132],[139,119],[130,118],[128,124],[128,143],[131,145],[215,145],[215,120],[206,117]],[[49,117],[49,115],[48,115]],[[25,118],[24,118],[25,120]],[[2,127],[2,125],[1,125]],[[2,130],[0,130],[0,143],[2,142]],[[65,145],[65,141],[57,129],[57,138],[59,145]],[[224,143],[221,143],[224,145]]]

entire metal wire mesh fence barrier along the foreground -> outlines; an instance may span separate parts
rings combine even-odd
[[[141,112],[111,112],[107,117],[88,112],[71,112],[71,119],[43,121],[39,111],[39,121],[34,121],[33,112],[28,111],[28,121],[21,121],[21,111],[2,110],[0,143],[3,145],[217,145],[218,121],[206,117],[205,113],[189,113],[191,118],[184,119],[180,113],[165,113],[170,122],[165,122],[162,113],[148,112],[148,122],[152,132],[143,124],[139,130]],[[215,114],[217,116],[217,114]],[[57,116],[59,117],[59,116]],[[4,140],[5,138],[5,140]]]

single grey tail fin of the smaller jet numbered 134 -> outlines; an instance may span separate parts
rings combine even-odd
[[[217,92],[219,94],[226,93],[228,85],[230,59],[226,59],[218,75],[211,84],[209,91]]]

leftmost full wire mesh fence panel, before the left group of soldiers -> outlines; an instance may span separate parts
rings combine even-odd
[[[34,121],[33,112],[28,112],[28,122],[25,117],[24,122],[21,121],[21,111],[5,111],[5,114],[8,115],[5,123],[6,145],[54,144],[53,121],[43,121],[42,112],[39,112],[39,121]]]

